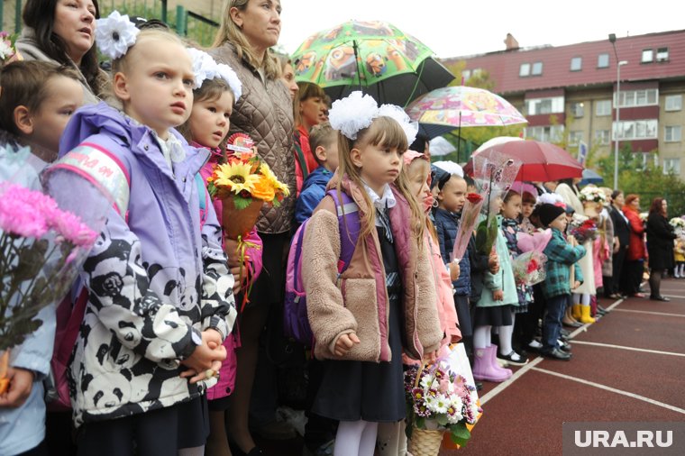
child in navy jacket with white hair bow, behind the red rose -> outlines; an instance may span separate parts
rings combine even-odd
[[[453,163],[452,171],[454,172],[449,173],[447,177],[436,179],[438,206],[434,212],[435,232],[440,245],[440,254],[446,265],[451,264],[454,239],[459,230],[458,213],[461,212],[466,202],[466,181],[461,177],[463,171],[461,171],[461,167],[455,169],[453,166],[458,167],[459,165]],[[457,174],[459,171],[461,171],[461,176]],[[445,172],[448,171],[445,170]],[[454,288],[454,305],[457,308],[461,337],[467,345],[470,345],[473,335],[469,311],[470,261],[466,254],[459,261],[459,275],[452,282],[452,287]]]

